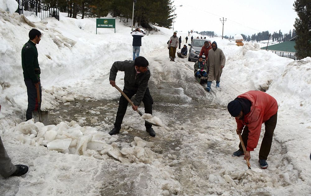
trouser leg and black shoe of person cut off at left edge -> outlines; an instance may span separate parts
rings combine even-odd
[[[0,105],[1,111],[1,105]],[[13,165],[10,157],[7,155],[2,139],[0,136],[0,175],[7,178],[10,176],[24,175],[28,172],[28,166],[25,165]]]

